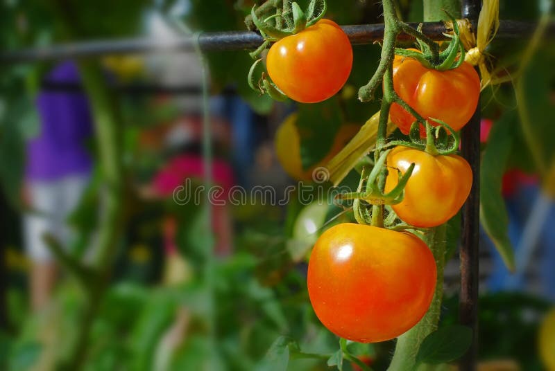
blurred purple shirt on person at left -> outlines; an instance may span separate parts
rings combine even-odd
[[[73,62],[58,64],[46,82],[78,84]],[[42,90],[37,97],[40,132],[27,144],[26,179],[51,181],[67,175],[88,174],[92,160],[85,148],[92,135],[89,102],[79,91]]]

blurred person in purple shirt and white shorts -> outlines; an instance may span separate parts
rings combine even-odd
[[[23,197],[30,210],[24,215],[24,244],[31,260],[34,310],[44,307],[56,282],[56,262],[44,235],[67,247],[71,241],[67,217],[78,205],[92,170],[85,147],[92,136],[89,103],[78,89],[71,89],[79,82],[77,66],[70,61],[46,75],[36,99],[40,130],[26,147]]]

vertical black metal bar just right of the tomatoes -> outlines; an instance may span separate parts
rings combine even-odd
[[[463,0],[462,15],[477,21],[481,0]],[[472,168],[472,189],[462,210],[461,293],[459,320],[472,329],[472,345],[461,358],[459,370],[476,371],[478,358],[479,207],[480,207],[480,103],[461,135],[461,152]]]

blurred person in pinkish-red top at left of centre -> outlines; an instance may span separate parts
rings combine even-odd
[[[197,184],[195,181],[203,181],[204,178],[204,159],[200,145],[202,135],[202,119],[196,114],[183,116],[163,130],[160,127],[154,127],[143,133],[140,139],[141,145],[144,148],[150,147],[151,150],[164,152],[166,159],[151,181],[139,189],[142,197],[170,199],[176,188],[186,185],[187,179],[191,179],[191,183],[188,184],[193,188],[186,187],[185,192],[194,192],[194,186]],[[230,163],[223,155],[230,138],[227,120],[217,117],[212,119],[212,137],[215,152],[212,161],[212,180],[214,185],[223,189],[221,194],[214,194],[213,198],[216,201],[211,205],[212,230],[216,237],[214,251],[218,255],[228,255],[232,251],[233,228],[229,206],[225,200],[228,197],[228,191],[234,185],[234,174]],[[207,188],[202,194],[203,200],[207,197],[206,192],[209,189]],[[191,197],[190,201],[196,200]],[[175,239],[177,228],[175,216],[167,215],[163,228],[164,239]],[[175,253],[176,248],[167,248],[169,260],[176,255]]]

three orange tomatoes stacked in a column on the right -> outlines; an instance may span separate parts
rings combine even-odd
[[[425,120],[438,119],[458,131],[477,107],[480,82],[470,64],[438,71],[418,60],[395,57],[393,88]],[[404,134],[416,121],[396,103],[391,105],[390,119]],[[400,174],[411,169],[402,201],[395,199],[398,203],[391,208],[412,227],[439,226],[466,201],[472,169],[456,154],[438,154],[433,142],[427,142],[428,152],[413,148],[420,142],[415,143],[399,145],[386,155],[384,194],[391,194]],[[436,270],[432,251],[416,235],[339,224],[325,231],[311,252],[309,297],[316,316],[334,334],[362,343],[386,341],[426,314],[434,297]]]

